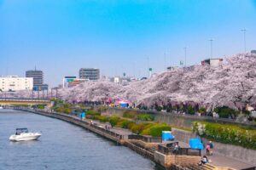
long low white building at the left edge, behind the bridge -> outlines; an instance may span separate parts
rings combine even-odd
[[[33,78],[30,77],[0,77],[0,90],[2,91],[18,91],[32,90]]]

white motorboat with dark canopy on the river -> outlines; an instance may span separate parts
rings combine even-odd
[[[27,128],[16,128],[16,133],[9,137],[11,141],[25,141],[36,140],[42,134],[41,133],[29,133]]]

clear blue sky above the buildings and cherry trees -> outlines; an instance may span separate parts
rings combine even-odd
[[[35,65],[45,82],[78,76],[80,67],[102,75],[143,77],[210,56],[256,48],[256,0],[0,0],[0,75],[24,76]],[[166,56],[166,57],[165,57]]]

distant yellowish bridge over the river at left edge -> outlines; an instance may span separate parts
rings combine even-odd
[[[0,105],[50,105],[49,99],[0,98]]]

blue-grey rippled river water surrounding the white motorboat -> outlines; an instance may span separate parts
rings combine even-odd
[[[16,127],[43,135],[35,141],[11,142]],[[108,139],[68,122],[25,111],[0,110],[0,169],[154,169],[154,162]]]

